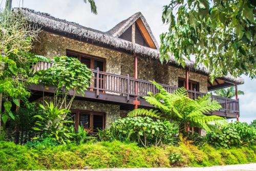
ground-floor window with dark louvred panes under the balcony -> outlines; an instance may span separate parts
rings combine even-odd
[[[75,114],[75,118],[77,118],[74,121],[76,128],[80,125],[84,129],[91,129],[92,132],[97,132],[97,128],[103,129],[105,127],[104,113],[72,110],[72,114]]]

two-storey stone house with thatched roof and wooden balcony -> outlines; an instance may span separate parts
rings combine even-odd
[[[107,32],[55,18],[30,9],[16,8],[26,20],[39,28],[40,42],[34,42],[33,52],[47,57],[67,55],[78,58],[95,73],[94,83],[74,100],[72,111],[75,124],[84,127],[108,127],[119,117],[125,117],[134,108],[151,108],[142,97],[156,92],[148,80],[161,83],[168,92],[185,87],[190,98],[203,96],[209,91],[243,84],[243,78],[224,76],[209,81],[209,71],[203,65],[194,67],[186,61],[185,68],[174,59],[161,65],[158,43],[146,19],[138,12]],[[51,63],[39,62],[36,70],[47,69]],[[54,92],[52,87],[31,85],[33,99],[42,92]],[[239,118],[239,99],[212,96],[222,109],[208,115]]]

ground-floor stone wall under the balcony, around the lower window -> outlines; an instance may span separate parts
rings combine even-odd
[[[53,101],[53,97],[46,96],[44,98],[47,102]],[[43,99],[37,100],[38,103],[43,103]],[[120,106],[114,104],[96,103],[85,100],[74,100],[71,109],[90,111],[90,112],[102,112],[105,113],[105,127],[110,125],[117,119],[120,118]]]

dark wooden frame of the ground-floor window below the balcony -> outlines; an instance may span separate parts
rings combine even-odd
[[[100,116],[103,116],[103,129],[105,129],[105,117],[106,117],[106,114],[104,112],[94,112],[94,111],[86,111],[86,110],[77,110],[77,109],[70,109],[71,113],[75,113],[75,130],[77,131],[78,129],[78,126],[79,126],[79,122],[80,122],[80,113],[90,113],[90,129],[91,129],[91,132],[92,133],[95,133],[93,131],[93,116],[94,115],[100,115]]]

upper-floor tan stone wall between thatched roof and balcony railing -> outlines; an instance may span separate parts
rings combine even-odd
[[[106,60],[106,72],[134,76],[134,55],[103,48],[86,42],[62,37],[46,31],[40,33],[33,52],[47,57],[66,55],[66,49],[99,56]],[[185,78],[185,70],[161,65],[160,61],[138,57],[138,78],[155,80],[169,86],[178,86],[178,77]],[[199,91],[207,93],[207,76],[189,72],[189,80],[199,82]]]

